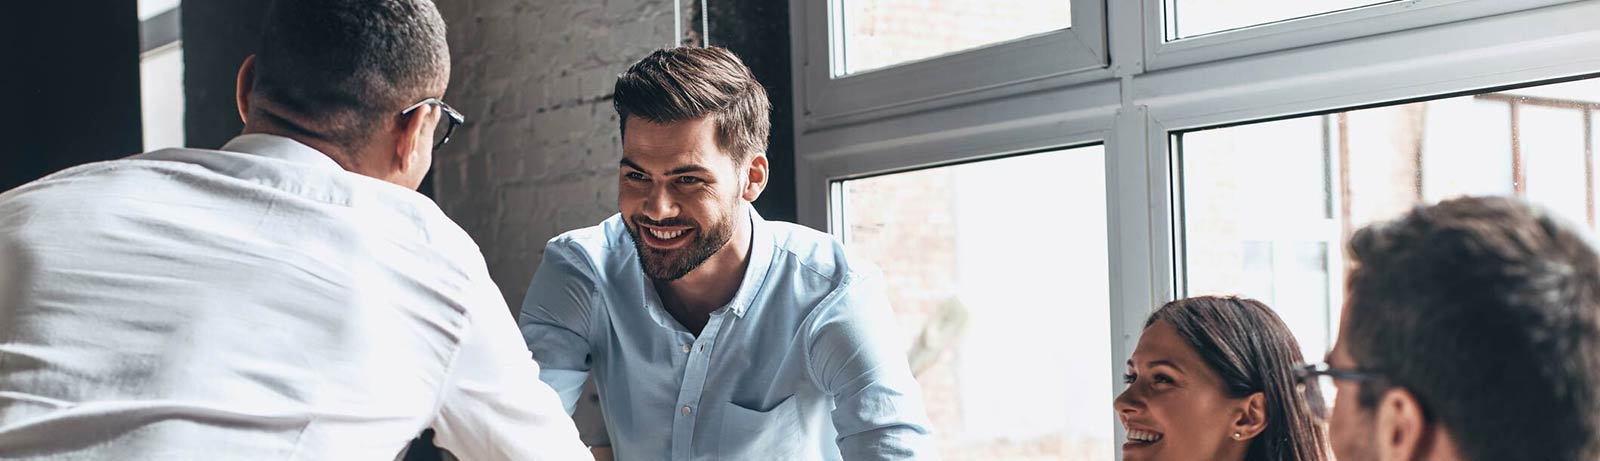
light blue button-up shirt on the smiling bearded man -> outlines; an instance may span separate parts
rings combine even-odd
[[[520,319],[539,378],[573,411],[595,373],[618,459],[931,458],[877,271],[744,208],[744,282],[698,338],[662,307],[619,214],[552,239]]]

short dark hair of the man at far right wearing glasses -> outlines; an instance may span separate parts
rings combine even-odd
[[[1462,459],[1595,459],[1600,259],[1515,198],[1416,208],[1350,237],[1344,346],[1373,408],[1416,395]]]

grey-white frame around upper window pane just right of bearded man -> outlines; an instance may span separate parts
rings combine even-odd
[[[840,2],[790,2],[795,27],[795,106],[802,125],[821,128],[928,107],[1066,86],[1099,78],[1106,67],[1104,0],[1072,3],[1072,27],[835,77],[843,64]],[[1104,74],[1104,72],[1101,72]]]

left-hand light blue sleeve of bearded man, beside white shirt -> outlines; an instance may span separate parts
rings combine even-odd
[[[584,392],[592,362],[587,333],[590,307],[598,296],[592,266],[584,261],[562,240],[546,245],[517,320],[528,351],[544,367],[539,379],[555,387],[568,415]]]

